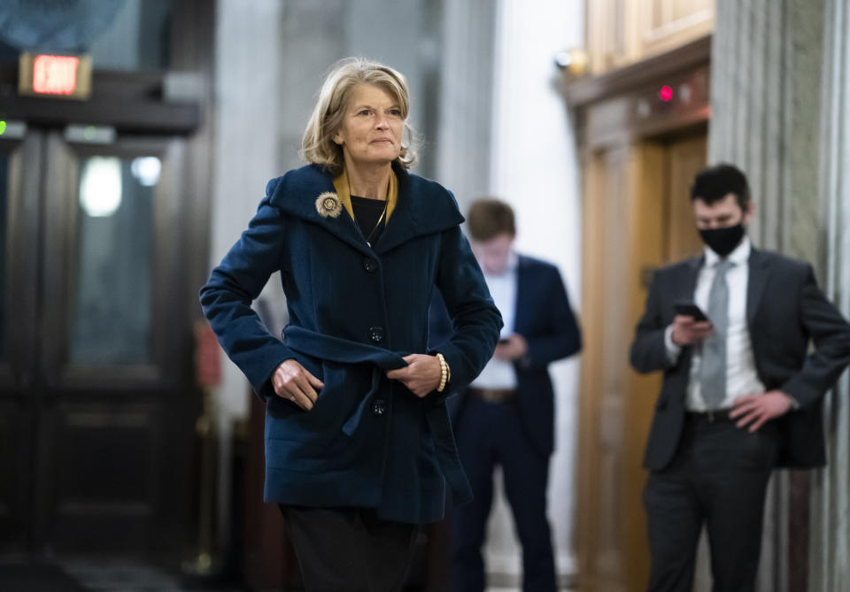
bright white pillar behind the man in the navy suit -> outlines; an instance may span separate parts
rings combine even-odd
[[[582,42],[581,2],[498,3],[490,191],[514,207],[517,249],[558,265],[576,308],[581,261],[578,165],[553,56]],[[561,580],[568,580],[576,570],[577,358],[551,365],[550,373],[556,396],[556,450],[550,465],[549,519],[557,569]],[[509,581],[522,573],[513,518],[501,492],[495,497],[485,557],[488,572],[497,580]],[[498,578],[506,575],[513,577]]]

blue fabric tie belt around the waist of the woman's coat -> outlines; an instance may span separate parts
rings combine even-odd
[[[404,368],[407,363],[403,352],[383,350],[375,345],[352,342],[340,337],[310,331],[304,327],[290,325],[283,329],[283,341],[290,350],[295,350],[312,358],[319,358],[338,364],[372,364],[372,387],[360,400],[357,409],[343,425],[343,432],[351,436],[357,429],[363,413],[368,409],[372,398],[378,392],[384,373],[388,370]],[[460,465],[458,448],[452,434],[452,424],[444,399],[439,399],[425,411],[425,419],[431,431],[437,462],[445,481],[452,491],[455,505],[472,501],[472,488],[469,487],[466,473]]]

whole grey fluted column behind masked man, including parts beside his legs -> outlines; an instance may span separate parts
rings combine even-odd
[[[824,280],[818,195],[823,0],[718,0],[712,47],[709,162],[747,173],[756,246],[810,261]],[[805,586],[810,473],[769,487],[759,590]],[[697,589],[710,589],[705,544]]]

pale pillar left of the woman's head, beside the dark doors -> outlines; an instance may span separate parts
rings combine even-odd
[[[218,0],[216,8],[215,143],[212,244],[210,263],[221,258],[248,227],[263,182],[276,171],[277,51],[268,51],[266,40],[277,39],[281,6],[276,0]],[[266,75],[257,75],[258,72]],[[249,106],[250,105],[250,106]],[[236,365],[222,365],[222,382],[216,391],[219,424],[218,534],[225,549],[230,524],[230,441],[233,419],[247,412],[248,387]]]

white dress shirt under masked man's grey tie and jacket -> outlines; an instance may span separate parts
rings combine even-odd
[[[738,396],[764,393],[764,385],[759,380],[753,358],[753,342],[746,325],[746,290],[750,279],[749,258],[752,246],[749,238],[744,238],[741,244],[733,250],[727,260],[732,266],[726,272],[726,283],[729,286],[729,325],[726,334],[726,398],[720,404],[722,409],[729,409]],[[715,251],[706,247],[705,264],[699,270],[697,287],[693,293],[694,304],[703,311],[708,310],[708,291],[715,279],[715,265],[721,257]],[[709,319],[711,320],[711,319]],[[672,340],[673,327],[667,327],[664,342],[671,363],[682,352],[682,348]],[[691,358],[691,373],[688,380],[688,393],[685,407],[688,411],[707,411],[699,387],[699,365],[702,361],[702,348],[696,344]]]

